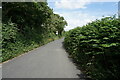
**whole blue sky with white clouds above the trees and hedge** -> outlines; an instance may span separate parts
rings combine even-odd
[[[119,0],[47,0],[55,14],[63,16],[68,23],[65,31],[82,27],[103,16],[118,13]]]

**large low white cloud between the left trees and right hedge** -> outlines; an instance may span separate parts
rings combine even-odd
[[[86,25],[87,23],[99,19],[100,17],[91,16],[87,13],[82,12],[64,12],[64,13],[58,13],[60,16],[64,16],[65,20],[68,23],[68,26],[65,27],[65,31],[68,31],[70,29],[73,29],[75,27],[82,27],[83,25]]]

